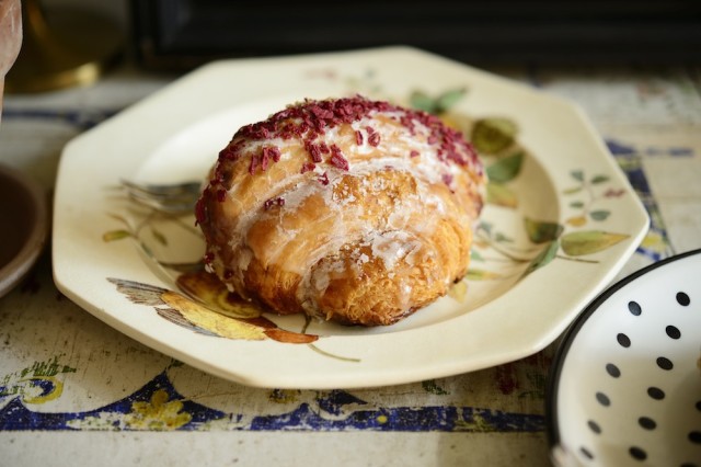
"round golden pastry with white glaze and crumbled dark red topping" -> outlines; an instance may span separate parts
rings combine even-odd
[[[277,314],[391,324],[468,269],[486,175],[430,114],[306,100],[243,126],[196,205],[205,264]]]

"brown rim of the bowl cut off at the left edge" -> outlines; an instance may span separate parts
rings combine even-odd
[[[35,210],[30,232],[16,254],[0,266],[0,297],[7,295],[22,281],[36,263],[46,244],[48,213],[46,194],[42,186],[24,172],[0,163],[0,180],[12,180],[19,186],[15,196],[28,201]]]

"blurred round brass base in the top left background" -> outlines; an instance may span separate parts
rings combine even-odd
[[[115,24],[84,11],[50,13],[37,0],[22,2],[24,39],[5,78],[8,93],[91,84],[119,57],[123,34]]]

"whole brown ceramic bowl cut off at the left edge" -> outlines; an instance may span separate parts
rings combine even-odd
[[[0,297],[26,275],[44,249],[46,209],[36,182],[0,164]]]

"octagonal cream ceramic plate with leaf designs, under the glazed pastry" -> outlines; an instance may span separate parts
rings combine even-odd
[[[491,187],[468,278],[395,326],[314,322],[306,332],[318,339],[302,344],[164,303],[174,274],[153,258],[196,261],[202,239],[192,219],[129,205],[114,189],[119,181],[202,179],[239,126],[304,98],[355,93],[440,113],[497,152],[485,159],[501,183]],[[404,47],[203,67],[72,140],[55,200],[55,278],[69,298],[200,369],[279,388],[416,381],[536,353],[608,285],[648,224],[577,107]],[[287,331],[304,326],[301,317],[267,318]]]

